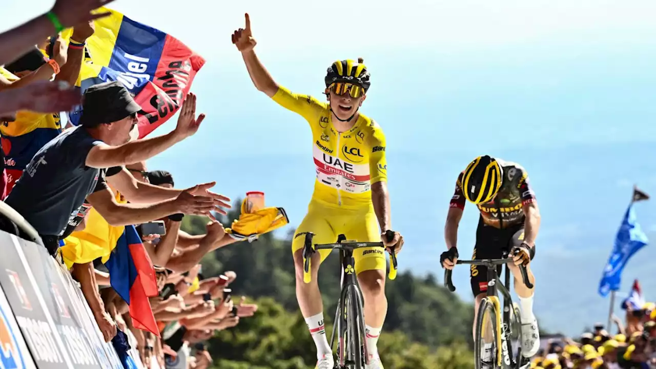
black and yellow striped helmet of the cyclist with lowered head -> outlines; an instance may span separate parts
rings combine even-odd
[[[502,169],[499,162],[489,156],[479,156],[462,172],[462,192],[474,204],[490,202],[501,188]]]

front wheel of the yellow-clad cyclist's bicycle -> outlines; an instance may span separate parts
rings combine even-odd
[[[350,286],[346,294],[346,319],[348,321],[348,341],[346,342],[346,357],[350,360],[347,368],[364,369],[362,355],[362,344],[364,337],[364,320],[362,318],[362,304],[359,299],[359,291],[356,286]]]

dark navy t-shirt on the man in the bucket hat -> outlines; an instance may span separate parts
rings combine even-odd
[[[98,144],[83,127],[64,131],[34,155],[5,202],[39,234],[60,236],[104,175],[85,165]]]

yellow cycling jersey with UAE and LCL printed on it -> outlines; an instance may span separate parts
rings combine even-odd
[[[371,206],[371,185],[387,180],[385,136],[380,126],[359,114],[353,128],[338,133],[330,107],[308,95],[279,87],[273,100],[297,112],[312,128],[317,178],[312,200],[342,207]]]

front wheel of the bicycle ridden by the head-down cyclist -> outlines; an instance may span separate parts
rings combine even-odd
[[[497,326],[497,311],[489,297],[484,297],[478,305],[476,316],[476,339],[474,339],[474,368],[499,368],[497,355],[501,349],[499,330]]]

